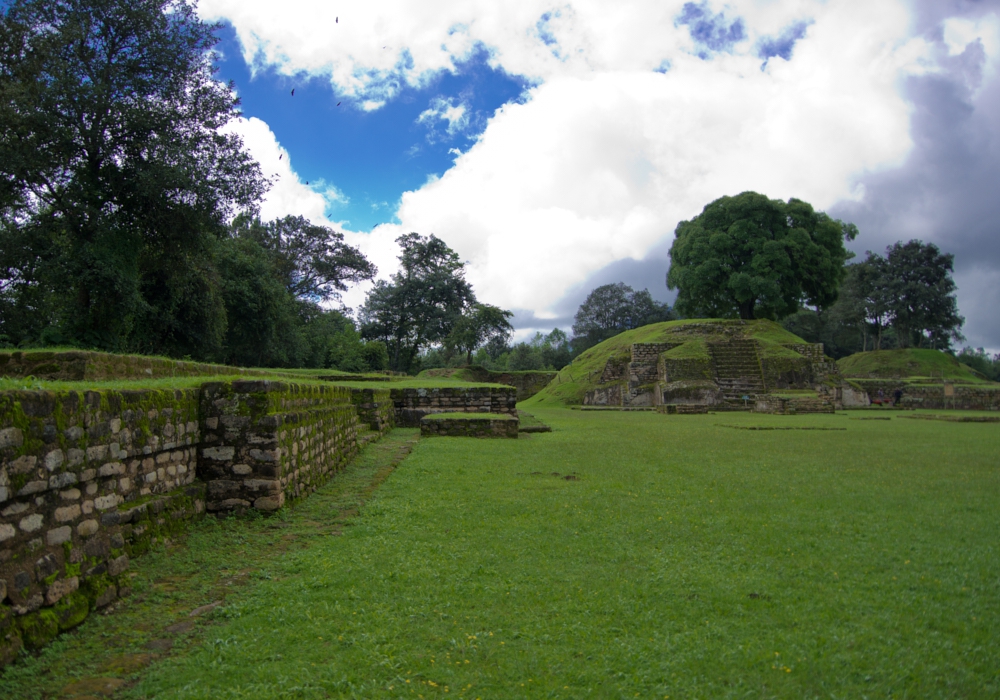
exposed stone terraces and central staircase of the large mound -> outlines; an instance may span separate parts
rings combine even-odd
[[[754,338],[748,330],[739,321],[691,323],[662,342],[634,343],[627,353],[608,359],[584,405],[651,407],[663,413],[708,408],[832,413],[867,403],[842,381],[822,343],[774,343]],[[783,390],[816,395],[773,393]]]

